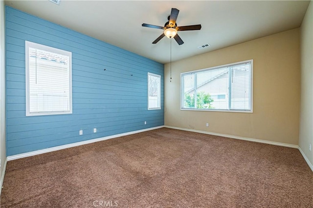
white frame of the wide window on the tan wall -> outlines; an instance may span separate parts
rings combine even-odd
[[[250,76],[250,110],[234,110],[234,109],[212,109],[212,108],[205,108],[205,109],[200,109],[200,108],[184,108],[184,97],[182,96],[184,94],[184,89],[183,89],[183,75],[184,74],[190,74],[190,73],[197,73],[201,71],[207,71],[211,69],[217,69],[217,68],[222,68],[222,67],[227,67],[227,66],[233,66],[233,65],[238,65],[242,63],[248,63],[250,62],[250,69],[251,69],[251,76]],[[219,66],[213,66],[209,68],[204,68],[204,69],[198,69],[194,71],[188,71],[188,72],[182,72],[180,73],[180,110],[191,110],[191,111],[212,111],[212,112],[237,112],[237,113],[253,113],[253,59],[251,60],[246,60],[242,62],[234,62],[234,63],[228,63],[224,65],[219,65]]]

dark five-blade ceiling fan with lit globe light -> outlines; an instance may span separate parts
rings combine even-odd
[[[174,38],[175,41],[181,45],[184,42],[181,40],[179,35],[177,34],[178,31],[186,31],[186,30],[200,30],[201,24],[195,24],[195,25],[188,25],[188,26],[177,26],[176,19],[178,16],[179,10],[176,8],[172,8],[171,15],[168,16],[168,21],[164,24],[164,27],[157,26],[153,24],[146,24],[143,23],[141,26],[143,27],[151,27],[156,29],[163,29],[164,32],[154,41],[153,44],[156,44],[161,40],[164,36],[168,38]]]

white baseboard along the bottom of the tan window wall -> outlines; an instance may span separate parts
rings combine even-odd
[[[238,137],[238,136],[233,136],[233,135],[228,135],[228,134],[219,134],[219,133],[214,133],[214,132],[209,132],[209,131],[201,131],[201,130],[195,130],[195,129],[189,129],[189,128],[180,128],[180,127],[168,126],[168,125],[165,125],[164,127],[174,128],[174,129],[183,130],[183,131],[197,132],[197,133],[201,133],[201,134],[210,134],[210,135],[214,135],[214,136],[228,137],[228,138],[232,138],[232,139],[246,140],[246,141],[250,141],[250,142],[265,143],[265,144],[269,144],[269,145],[287,146],[287,147],[291,147],[291,148],[298,148],[297,145],[290,145],[290,144],[279,143],[279,142],[271,142],[271,141],[260,140],[260,139],[251,139],[251,138],[246,138],[246,137]]]

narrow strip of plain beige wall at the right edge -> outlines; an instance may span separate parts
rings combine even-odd
[[[313,164],[313,2],[301,25],[301,105],[299,146]]]

